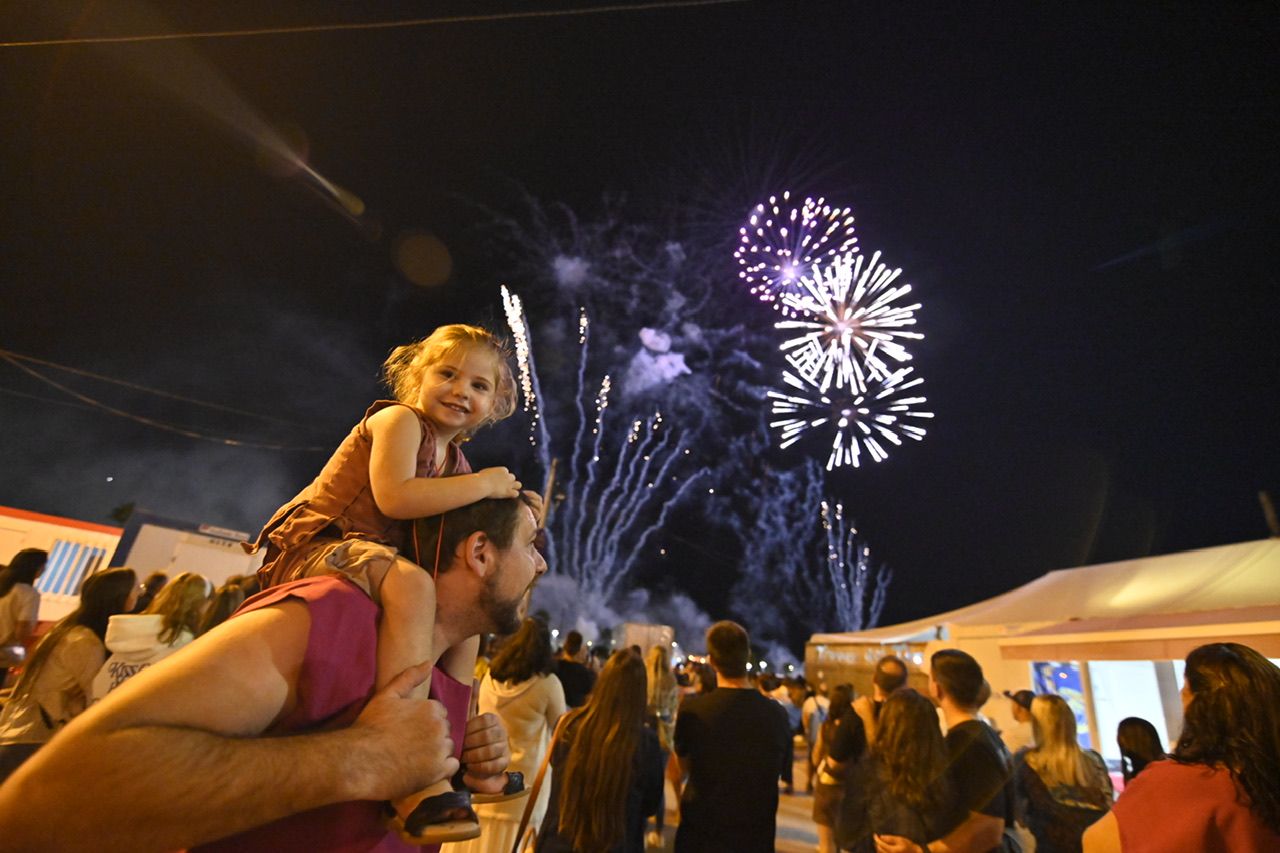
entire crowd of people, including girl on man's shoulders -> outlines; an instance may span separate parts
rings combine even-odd
[[[765,853],[797,736],[822,853],[1280,849],[1280,669],[1234,643],[1188,657],[1167,757],[1121,725],[1119,799],[1061,697],[1006,694],[1002,740],[960,649],[927,692],[884,657],[864,695],[753,676],[732,621],[678,671],[553,651],[527,615],[545,506],[462,452],[515,411],[509,355],[449,325],[384,369],[394,398],[268,521],[257,578],[99,571],[32,646],[47,555],[0,573],[5,849],[639,853],[669,780],[677,853]]]

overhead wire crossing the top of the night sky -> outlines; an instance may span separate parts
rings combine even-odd
[[[152,36],[87,36],[83,38],[40,38],[32,41],[4,41],[0,47],[63,47],[72,45],[127,45],[147,41],[179,41],[184,38],[238,38],[247,36],[293,36],[315,32],[342,32],[351,29],[403,29],[452,23],[485,23],[490,20],[518,20],[525,18],[562,18],[571,15],[599,15],[614,12],[650,12],[654,9],[685,9],[692,6],[722,6],[750,3],[750,0],[657,0],[654,3],[614,4],[590,9],[544,9],[539,12],[495,12],[481,15],[449,15],[444,18],[406,18],[401,20],[374,20],[366,23],[305,24],[298,27],[261,27],[255,29],[214,29],[204,32],[174,32]]]

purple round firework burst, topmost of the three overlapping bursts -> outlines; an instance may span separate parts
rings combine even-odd
[[[739,278],[762,302],[772,304],[787,316],[794,316],[795,309],[781,297],[796,292],[800,282],[813,274],[815,263],[858,247],[849,207],[832,207],[824,199],[805,199],[796,206],[790,191],[755,205],[739,236],[733,250],[741,268]]]

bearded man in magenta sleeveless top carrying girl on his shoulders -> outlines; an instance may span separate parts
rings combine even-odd
[[[507,630],[547,570],[526,500],[422,524],[440,539],[435,639]],[[73,720],[0,786],[6,850],[394,850],[383,800],[506,784],[507,733],[430,663],[376,685],[378,607],[342,576],[282,584]],[[448,720],[445,713],[448,710]],[[452,733],[451,733],[452,729]],[[228,838],[234,836],[234,838]],[[216,843],[216,844],[215,844]]]

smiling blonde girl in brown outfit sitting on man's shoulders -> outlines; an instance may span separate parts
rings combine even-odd
[[[315,482],[276,511],[253,544],[266,549],[259,570],[264,589],[339,571],[381,605],[379,688],[422,661],[471,684],[475,639],[433,648],[435,555],[413,553],[410,520],[520,496],[521,484],[506,467],[472,473],[462,453],[477,429],[516,410],[508,359],[493,333],[472,325],[444,325],[393,350],[383,370],[396,398],[369,407]],[[428,690],[429,681],[416,694]],[[422,797],[393,803],[416,843],[479,834],[465,797]],[[417,831],[424,824],[430,826]]]

